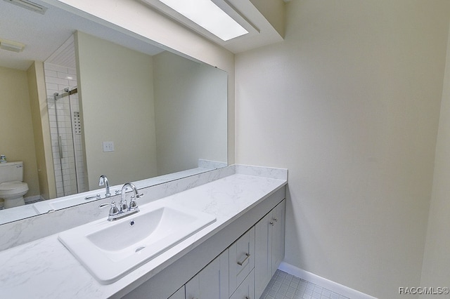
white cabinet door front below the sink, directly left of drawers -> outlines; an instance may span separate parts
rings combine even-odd
[[[186,299],[228,299],[228,251],[224,251],[186,284]]]

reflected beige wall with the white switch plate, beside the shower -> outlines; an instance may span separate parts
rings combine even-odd
[[[101,174],[112,185],[155,176],[151,56],[82,32],[75,40],[89,190]],[[103,152],[103,141],[115,151]]]

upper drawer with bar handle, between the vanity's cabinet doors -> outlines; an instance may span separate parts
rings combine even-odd
[[[245,232],[229,247],[229,294],[244,281],[255,267],[255,227]]]

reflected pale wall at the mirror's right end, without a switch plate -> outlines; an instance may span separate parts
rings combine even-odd
[[[158,175],[226,162],[226,72],[167,51],[153,63]]]

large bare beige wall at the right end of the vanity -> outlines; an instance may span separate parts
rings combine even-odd
[[[289,168],[286,262],[402,298],[420,285],[450,2],[286,15],[285,41],[236,55],[236,162]]]

